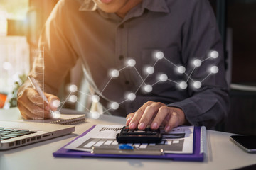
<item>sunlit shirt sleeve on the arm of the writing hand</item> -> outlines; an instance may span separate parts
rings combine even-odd
[[[78,59],[65,33],[65,24],[68,24],[65,21],[65,10],[67,10],[65,1],[58,1],[53,8],[39,38],[38,57],[34,60],[33,68],[29,73],[37,80],[44,79],[45,92],[54,95],[58,94],[63,79]],[[28,86],[31,84],[26,81],[19,89],[18,96]]]

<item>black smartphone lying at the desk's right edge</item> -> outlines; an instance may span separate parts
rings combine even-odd
[[[233,135],[230,140],[245,152],[256,153],[256,136]]]

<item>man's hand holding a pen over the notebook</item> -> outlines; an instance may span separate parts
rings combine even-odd
[[[25,89],[21,96],[18,97],[18,109],[21,111],[22,117],[25,119],[34,120],[41,118],[51,118],[50,109],[52,111],[57,110],[57,108],[53,105],[53,101],[59,101],[59,98],[52,94],[46,93],[45,96],[50,104],[46,103],[46,101],[43,101],[43,98],[38,94],[35,89]]]

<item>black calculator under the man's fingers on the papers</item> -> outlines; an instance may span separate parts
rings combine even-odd
[[[116,139],[118,143],[159,143],[162,135],[160,129],[152,130],[147,127],[145,130],[132,130],[128,126],[124,126],[121,132],[117,134]]]

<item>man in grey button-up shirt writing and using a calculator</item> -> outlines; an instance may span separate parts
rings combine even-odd
[[[206,0],[59,1],[41,35],[43,47],[50,103],[58,99],[54,95],[61,81],[81,58],[102,106],[127,116],[129,128],[210,128],[228,113],[222,43]],[[31,71],[36,78],[39,61]],[[26,82],[21,88],[18,108],[23,118],[41,118],[36,111],[42,106],[34,104],[38,94],[29,86]],[[127,93],[132,94],[129,100]],[[114,102],[117,110],[109,107]],[[45,106],[48,118],[49,109],[56,108]]]

